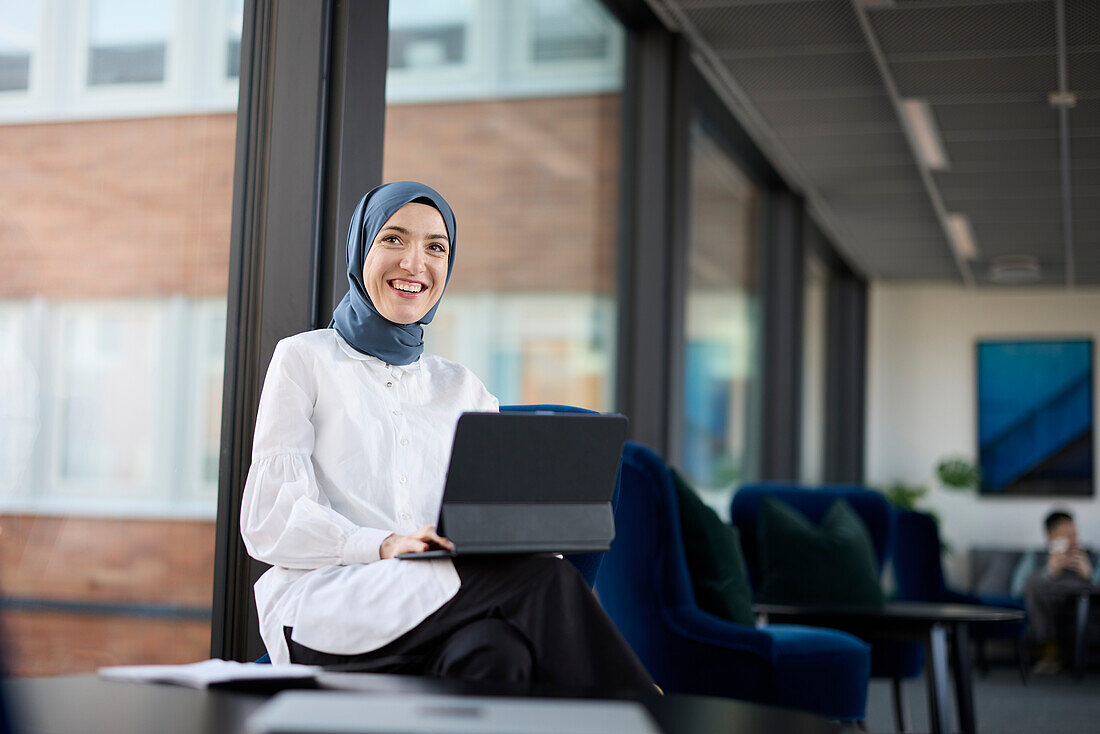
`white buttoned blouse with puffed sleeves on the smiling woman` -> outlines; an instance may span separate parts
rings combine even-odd
[[[459,415],[497,407],[440,357],[386,364],[334,329],[278,342],[241,506],[249,554],[273,567],[255,585],[272,662],[289,662],[284,626],[316,650],[366,653],[458,592],[449,559],[380,560],[378,546],[436,523]]]

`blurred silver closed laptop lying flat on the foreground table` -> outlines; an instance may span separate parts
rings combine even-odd
[[[660,734],[636,701],[284,691],[249,734]]]

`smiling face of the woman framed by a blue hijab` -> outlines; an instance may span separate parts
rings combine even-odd
[[[363,261],[363,285],[383,318],[415,324],[447,285],[451,242],[439,210],[406,204],[386,220]]]

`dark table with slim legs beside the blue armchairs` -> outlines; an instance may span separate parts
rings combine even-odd
[[[926,602],[887,602],[881,607],[796,606],[757,604],[758,616],[773,622],[793,622],[816,627],[844,629],[854,635],[921,639],[928,651],[925,668],[928,680],[928,715],[933,734],[952,731],[947,703],[947,638],[952,637],[952,668],[955,677],[955,702],[959,728],[977,734],[971,684],[969,626],[990,622],[1011,622],[1024,617],[1020,610],[971,604]]]

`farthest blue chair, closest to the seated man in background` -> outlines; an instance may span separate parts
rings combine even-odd
[[[893,552],[894,579],[898,599],[914,602],[939,602],[948,604],[979,604],[1024,610],[1024,603],[1012,596],[994,594],[966,594],[947,587],[944,581],[939,528],[932,515],[919,512],[897,513],[897,533]],[[1009,639],[1016,646],[1016,664],[1020,678],[1027,682],[1027,644],[1024,634],[1027,622],[997,622],[976,625],[970,638],[978,648],[978,665],[987,671],[986,642]]]

